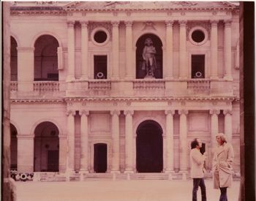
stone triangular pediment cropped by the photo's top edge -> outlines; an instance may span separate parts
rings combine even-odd
[[[223,1],[75,1],[64,6],[64,10],[218,10],[236,7],[236,4]]]

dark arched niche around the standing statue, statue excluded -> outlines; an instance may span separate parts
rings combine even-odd
[[[144,34],[136,42],[136,78],[143,79],[146,77],[146,69],[143,65],[143,48],[145,47],[146,39],[150,38],[156,50],[155,59],[157,67],[154,71],[155,78],[162,78],[162,41],[154,34]]]

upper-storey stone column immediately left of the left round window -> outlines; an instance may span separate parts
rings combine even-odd
[[[81,21],[81,79],[88,80],[88,21]]]

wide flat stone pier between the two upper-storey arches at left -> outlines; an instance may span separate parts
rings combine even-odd
[[[34,48],[18,47],[17,50],[18,91],[34,91]]]

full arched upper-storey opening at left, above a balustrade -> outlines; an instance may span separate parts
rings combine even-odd
[[[34,80],[59,80],[59,42],[55,37],[42,35],[34,44]]]

